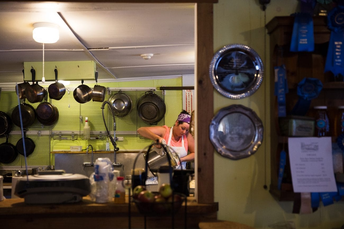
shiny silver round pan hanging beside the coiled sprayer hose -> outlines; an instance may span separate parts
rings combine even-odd
[[[132,108],[132,101],[128,95],[123,93],[121,90],[116,94],[113,94],[109,101],[114,107],[115,115],[119,117],[126,116]]]

